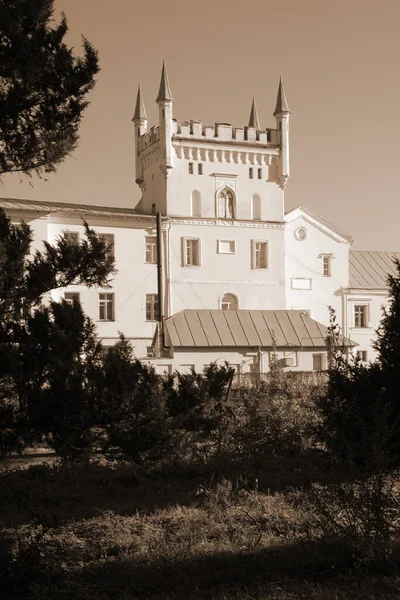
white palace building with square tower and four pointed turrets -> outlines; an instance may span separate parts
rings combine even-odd
[[[323,370],[328,306],[350,351],[373,360],[386,277],[400,253],[352,251],[352,238],[313,211],[285,213],[282,82],[273,129],[260,128],[254,101],[244,127],[176,121],[165,67],[156,101],[159,123],[149,128],[139,87],[135,208],[0,200],[15,223],[32,227],[31,252],[62,232],[79,238],[84,220],[112,244],[110,287],[71,286],[53,298],[78,298],[105,345],[122,332],[158,372],[217,360],[263,373],[274,348],[287,369]]]

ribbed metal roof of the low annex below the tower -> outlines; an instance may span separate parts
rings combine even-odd
[[[165,321],[179,347],[322,348],[328,328],[298,310],[183,310]],[[357,345],[345,340],[346,345]]]

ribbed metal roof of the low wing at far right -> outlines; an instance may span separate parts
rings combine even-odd
[[[400,252],[352,250],[349,256],[349,287],[387,288],[388,274],[397,273],[394,258],[400,260]]]

